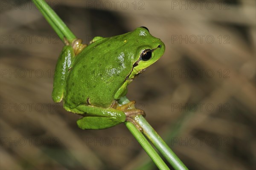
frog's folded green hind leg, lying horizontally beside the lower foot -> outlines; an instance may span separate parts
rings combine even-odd
[[[116,126],[125,122],[124,112],[113,108],[91,107],[87,105],[79,105],[75,108],[76,113],[83,112],[84,116],[77,121],[77,125],[81,129],[105,129]],[[70,109],[70,111],[75,111]]]

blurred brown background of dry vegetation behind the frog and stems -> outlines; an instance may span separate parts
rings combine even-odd
[[[63,44],[32,2],[0,2],[0,168],[157,169],[124,124],[80,130],[53,103]],[[47,2],[86,43],[146,26],[166,52],[128,98],[189,169],[256,168],[254,0]]]

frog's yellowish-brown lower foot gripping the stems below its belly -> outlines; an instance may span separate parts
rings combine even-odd
[[[138,130],[140,130],[140,132],[143,132],[143,128],[138,124],[136,119],[138,118],[138,115],[143,115],[143,117],[145,117],[145,112],[144,110],[136,109],[135,101],[130,101],[122,106],[117,106],[116,109],[122,110],[125,113],[125,121],[131,122]]]

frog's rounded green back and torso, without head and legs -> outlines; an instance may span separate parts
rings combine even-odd
[[[113,50],[111,38],[87,46],[72,62],[64,89],[64,102],[70,108],[80,104],[110,107],[117,90],[132,70],[131,53]],[[109,43],[108,43],[109,42]],[[99,46],[100,44],[100,46]],[[122,46],[120,44],[119,46]]]

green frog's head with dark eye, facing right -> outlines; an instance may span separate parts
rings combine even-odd
[[[134,56],[133,69],[126,79],[134,79],[136,75],[142,73],[148,66],[156,62],[164,53],[164,43],[156,37],[153,37],[146,27],[139,27],[131,34],[137,39],[137,52]]]

